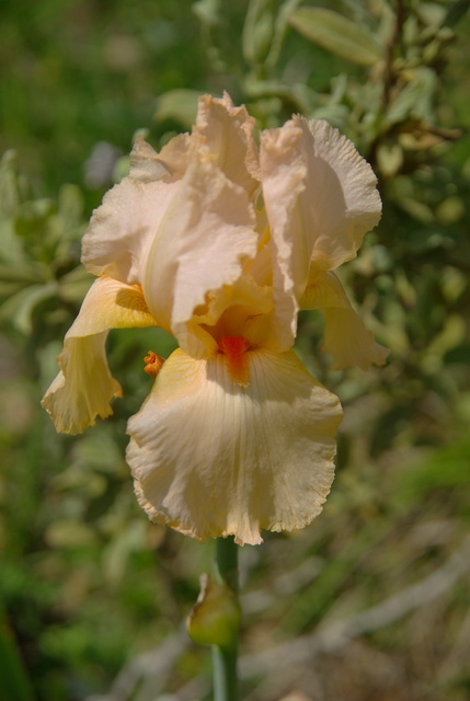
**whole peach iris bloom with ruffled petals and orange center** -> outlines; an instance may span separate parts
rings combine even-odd
[[[254,126],[205,95],[191,135],[159,153],[137,138],[83,238],[96,280],[43,400],[57,430],[81,433],[122,394],[108,331],[173,334],[164,363],[147,356],[154,383],[128,423],[137,498],[152,521],[240,544],[309,524],[333,480],[342,410],[293,350],[298,311],[324,313],[334,368],[387,355],[333,272],[380,218],[372,170],[323,120],[294,116],[260,148]]]

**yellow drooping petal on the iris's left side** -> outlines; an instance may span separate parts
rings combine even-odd
[[[113,413],[113,397],[122,395],[107,367],[108,330],[154,325],[138,286],[110,277],[94,281],[57,357],[60,372],[42,401],[59,433],[78,434],[98,415],[105,418]]]

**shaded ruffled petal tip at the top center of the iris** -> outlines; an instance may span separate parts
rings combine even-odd
[[[221,100],[210,95],[199,97],[193,136],[206,145],[214,162],[229,180],[241,185],[250,198],[260,187],[254,126],[255,119],[244,105],[234,107],[228,93]]]

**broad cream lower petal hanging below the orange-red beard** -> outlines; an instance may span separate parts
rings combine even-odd
[[[250,350],[248,387],[226,357],[177,349],[128,424],[127,461],[149,517],[204,540],[293,530],[322,508],[333,480],[340,402],[294,352]]]

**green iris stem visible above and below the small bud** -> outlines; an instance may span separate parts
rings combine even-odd
[[[238,591],[238,545],[233,538],[217,538],[216,563],[220,577]],[[214,701],[239,701],[238,641],[230,647],[213,645]]]

